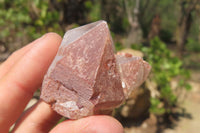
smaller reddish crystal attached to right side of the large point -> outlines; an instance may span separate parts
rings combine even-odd
[[[124,95],[128,98],[133,89],[138,88],[147,79],[151,66],[141,57],[128,53],[117,53],[116,59]]]

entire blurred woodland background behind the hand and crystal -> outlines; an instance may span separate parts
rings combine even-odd
[[[106,20],[117,51],[142,56],[148,80],[113,116],[126,133],[198,133],[200,0],[0,0],[0,61],[47,32]],[[37,92],[30,105],[37,101]]]

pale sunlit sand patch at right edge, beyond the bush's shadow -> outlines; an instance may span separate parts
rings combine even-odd
[[[190,84],[192,90],[187,94],[181,107],[190,117],[182,117],[174,129],[166,129],[164,133],[199,133],[200,132],[200,71],[193,71]]]

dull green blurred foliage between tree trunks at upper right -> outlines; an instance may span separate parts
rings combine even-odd
[[[144,37],[148,36],[151,22],[155,15],[161,17],[161,28],[173,34],[177,24],[177,9],[177,2],[174,0],[140,0],[139,21]]]

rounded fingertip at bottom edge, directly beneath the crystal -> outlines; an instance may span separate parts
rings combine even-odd
[[[67,120],[58,124],[50,133],[123,133],[122,125],[110,116],[90,116]]]

